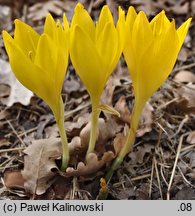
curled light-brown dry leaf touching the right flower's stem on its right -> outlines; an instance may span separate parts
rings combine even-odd
[[[136,136],[141,137],[145,133],[148,133],[152,130],[153,124],[153,107],[150,103],[146,103],[144,110],[141,115],[141,120],[139,124],[139,129],[136,131]]]

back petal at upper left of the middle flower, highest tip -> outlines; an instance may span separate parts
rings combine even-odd
[[[74,11],[75,13],[71,22],[71,28],[78,25],[90,36],[91,40],[95,40],[95,24],[89,13],[84,9],[81,3],[76,5]]]

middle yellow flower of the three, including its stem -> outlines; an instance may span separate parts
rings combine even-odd
[[[125,16],[119,8],[119,19],[114,25],[108,6],[104,6],[96,24],[78,3],[71,22],[70,58],[90,94],[92,103],[91,134],[87,155],[94,151],[100,96],[121,56],[124,45]]]

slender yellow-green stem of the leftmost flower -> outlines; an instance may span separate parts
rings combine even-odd
[[[68,162],[70,159],[69,155],[69,148],[68,148],[68,141],[66,137],[66,131],[64,127],[64,104],[62,101],[62,98],[60,99],[60,116],[59,118],[56,118],[56,122],[58,125],[61,141],[62,141],[62,164],[61,164],[61,170],[66,171],[66,168],[68,166]]]

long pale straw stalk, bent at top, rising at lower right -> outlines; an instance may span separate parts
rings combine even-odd
[[[169,186],[168,186],[168,189],[167,189],[167,200],[170,200],[170,189],[171,189],[171,186],[172,186],[172,183],[173,183],[173,178],[175,176],[175,169],[176,169],[177,162],[178,162],[178,159],[179,159],[179,155],[180,155],[180,152],[181,152],[181,146],[182,146],[182,143],[183,143],[183,138],[185,136],[187,136],[188,134],[189,134],[189,132],[183,134],[180,137],[180,140],[179,140],[179,145],[178,145],[178,148],[177,148],[177,154],[176,154],[176,157],[175,157],[175,162],[174,162],[173,170],[172,170],[172,173],[171,173],[171,178],[169,180]]]

